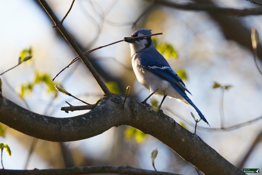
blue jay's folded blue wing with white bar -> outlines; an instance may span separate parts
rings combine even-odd
[[[187,91],[189,90],[185,87],[185,83],[181,80],[181,78],[174,72],[169,65],[159,64],[156,62],[149,62],[149,64],[141,65],[144,68],[151,71],[153,74],[160,76],[161,78],[171,81],[175,83],[181,90]],[[190,93],[191,94],[191,93]],[[192,95],[192,94],[191,94]]]

